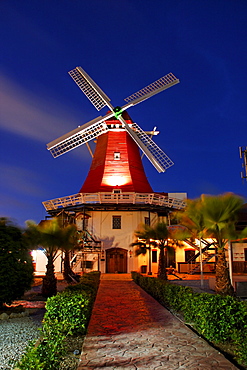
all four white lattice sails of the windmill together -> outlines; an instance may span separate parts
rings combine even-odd
[[[123,111],[129,107],[179,83],[179,80],[172,73],[161,77],[159,80],[124,99],[127,104],[121,108],[114,108],[112,106],[108,96],[81,67],[76,67],[71,70],[69,75],[97,110],[107,106],[110,112],[104,117],[100,116],[47,144],[47,149],[51,152],[53,157],[56,158],[108,132],[110,128],[108,128],[106,121],[115,116],[115,118],[122,123],[122,128],[125,128],[158,172],[164,172],[174,164],[136,123],[133,124],[131,129],[122,117]]]

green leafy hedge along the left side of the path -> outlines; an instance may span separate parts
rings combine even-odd
[[[100,272],[83,275],[80,282],[48,298],[41,336],[30,342],[15,370],[54,370],[65,355],[65,339],[86,333],[100,281]]]

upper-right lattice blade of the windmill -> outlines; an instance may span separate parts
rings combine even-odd
[[[179,79],[175,77],[172,73],[168,73],[167,75],[161,77],[159,80],[128,96],[124,100],[128,103],[132,103],[132,105],[136,105],[150,98],[151,96],[156,95],[173,85],[176,85],[177,83],[179,83]]]

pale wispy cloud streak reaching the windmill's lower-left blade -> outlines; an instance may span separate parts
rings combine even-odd
[[[64,106],[34,95],[0,73],[0,128],[49,142],[81,125]]]

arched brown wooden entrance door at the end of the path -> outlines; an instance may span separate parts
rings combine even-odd
[[[127,250],[112,248],[106,251],[106,272],[127,272]]]

